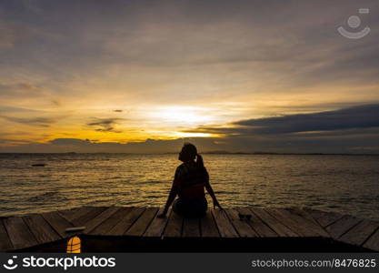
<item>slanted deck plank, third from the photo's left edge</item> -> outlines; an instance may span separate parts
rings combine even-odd
[[[26,225],[35,235],[40,244],[59,240],[61,237],[56,233],[40,214],[33,214],[23,217]]]

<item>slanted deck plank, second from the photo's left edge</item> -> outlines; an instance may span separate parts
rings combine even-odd
[[[8,236],[15,249],[30,248],[38,245],[37,240],[22,217],[8,217],[4,219]]]

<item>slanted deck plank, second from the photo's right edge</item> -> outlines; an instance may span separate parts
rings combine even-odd
[[[354,246],[362,246],[378,227],[378,222],[363,220],[346,232],[339,240]]]

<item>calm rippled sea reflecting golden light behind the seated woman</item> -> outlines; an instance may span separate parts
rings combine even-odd
[[[0,216],[162,207],[179,164],[176,155],[0,154]],[[204,155],[204,164],[224,207],[308,206],[379,219],[377,156]]]

